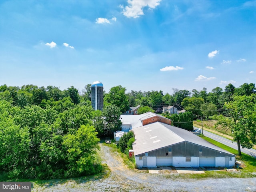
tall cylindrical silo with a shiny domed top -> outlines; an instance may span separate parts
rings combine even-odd
[[[91,103],[95,110],[102,110],[103,84],[100,81],[94,81],[91,85]]]

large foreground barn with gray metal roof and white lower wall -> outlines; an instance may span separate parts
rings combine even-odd
[[[235,155],[182,128],[161,122],[131,131],[136,166],[232,167]]]

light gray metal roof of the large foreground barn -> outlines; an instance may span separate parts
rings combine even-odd
[[[135,156],[184,141],[204,146],[213,150],[218,150],[227,154],[232,154],[187,130],[160,122],[140,126],[132,129],[132,131],[135,134],[135,142],[132,144]]]

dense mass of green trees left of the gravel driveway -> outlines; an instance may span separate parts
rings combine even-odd
[[[74,87],[0,86],[0,174],[7,180],[100,172],[93,115]]]

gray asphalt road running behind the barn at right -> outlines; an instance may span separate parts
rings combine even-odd
[[[220,143],[222,143],[222,144],[224,144],[226,146],[229,146],[229,147],[231,147],[233,149],[238,150],[236,142],[232,142],[229,139],[226,139],[224,137],[221,137],[221,136],[218,136],[216,134],[210,133],[210,132],[208,132],[206,130],[203,130],[203,134],[206,137],[209,137],[209,138],[211,138],[213,140],[216,140],[216,141],[218,141],[218,142],[220,142]],[[247,148],[242,148],[242,147],[240,147],[240,149],[241,149],[241,152],[256,158],[256,150],[255,149],[252,149],[252,148],[251,149],[247,149]]]

